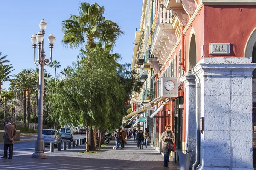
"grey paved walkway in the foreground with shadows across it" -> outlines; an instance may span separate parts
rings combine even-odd
[[[163,167],[163,156],[152,147],[137,148],[133,139],[128,140],[124,150],[113,150],[114,141],[97,153],[84,153],[85,145],[47,152],[47,159],[35,159],[29,155],[0,159],[0,170],[167,170]],[[176,170],[178,164],[170,162],[169,169]],[[171,168],[172,167],[172,168]]]

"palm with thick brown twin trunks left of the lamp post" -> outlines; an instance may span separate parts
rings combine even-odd
[[[28,113],[28,122],[30,122],[30,89],[35,88],[35,78],[27,74],[19,74],[14,81],[15,86],[23,91],[23,122],[26,123],[26,113]],[[29,106],[28,111],[27,102]]]

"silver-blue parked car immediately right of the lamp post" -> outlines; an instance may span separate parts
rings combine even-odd
[[[61,134],[56,129],[43,129],[42,138],[45,144],[54,143],[58,147],[58,142],[62,143]]]

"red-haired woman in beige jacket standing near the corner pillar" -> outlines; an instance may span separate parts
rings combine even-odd
[[[171,130],[171,125],[166,125],[165,126],[166,131],[162,133],[161,136],[161,141],[162,141],[162,146],[163,146],[163,167],[169,167],[169,158],[170,158],[170,153],[172,150],[174,150],[174,146],[172,142],[175,141],[175,136],[173,131]]]

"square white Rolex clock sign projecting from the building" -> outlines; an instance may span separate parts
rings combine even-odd
[[[161,79],[161,96],[178,97],[178,78],[162,77]]]

